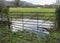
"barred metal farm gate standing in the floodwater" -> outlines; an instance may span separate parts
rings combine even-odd
[[[45,38],[46,34],[54,31],[55,28],[55,14],[54,12],[20,12],[10,13],[12,21],[12,31],[23,31],[26,37],[30,36],[31,41],[34,40],[34,35],[39,40],[41,37]],[[27,35],[29,33],[29,35]],[[34,34],[33,34],[34,33]]]

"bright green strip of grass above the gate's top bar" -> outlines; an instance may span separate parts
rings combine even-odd
[[[55,12],[53,8],[10,8],[10,12]]]

